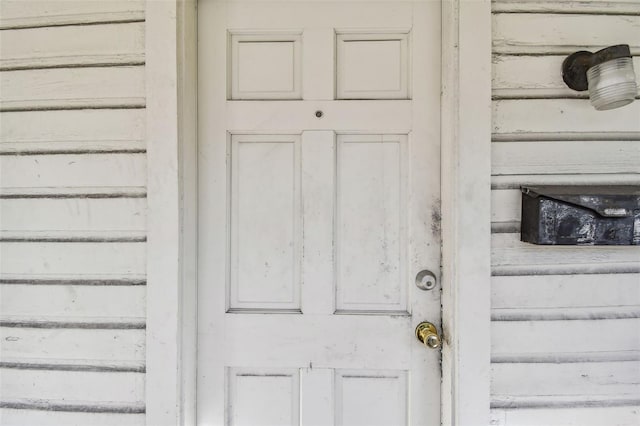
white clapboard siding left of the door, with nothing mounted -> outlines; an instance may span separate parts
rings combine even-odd
[[[0,3],[0,423],[142,425],[144,1]]]

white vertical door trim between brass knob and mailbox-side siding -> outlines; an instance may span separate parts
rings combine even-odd
[[[443,424],[486,425],[491,3],[443,2]]]

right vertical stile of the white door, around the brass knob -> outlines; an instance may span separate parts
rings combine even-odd
[[[434,40],[436,41],[434,43]],[[413,4],[411,43],[412,131],[409,136],[411,162],[409,202],[410,280],[421,270],[432,271],[440,279],[440,67],[433,58],[440,55],[440,16],[428,3]],[[415,46],[421,46],[416,49]],[[435,78],[434,78],[435,77]],[[433,98],[437,97],[438,102]],[[412,326],[424,320],[440,323],[440,286],[423,291],[410,286]],[[412,347],[411,375],[434,377],[440,370],[440,354],[434,356],[424,347]],[[438,374],[438,378],[440,375]],[[440,392],[424,380],[410,380],[410,393],[430,395],[410,405],[411,423],[439,424]],[[422,419],[422,420],[418,420]]]

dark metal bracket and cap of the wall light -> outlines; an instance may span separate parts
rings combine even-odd
[[[562,62],[562,79],[573,90],[583,92],[589,89],[587,70],[595,65],[618,58],[631,57],[628,44],[606,47],[595,53],[581,50],[567,56]]]

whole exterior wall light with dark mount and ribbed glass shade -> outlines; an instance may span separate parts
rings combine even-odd
[[[573,90],[589,90],[591,105],[600,111],[630,104],[638,93],[628,44],[572,53],[562,63],[562,79]]]

